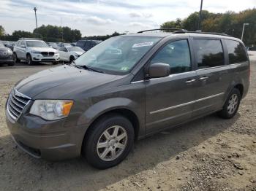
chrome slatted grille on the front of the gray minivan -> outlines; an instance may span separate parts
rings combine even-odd
[[[20,117],[20,114],[25,106],[29,104],[30,100],[31,98],[28,96],[19,93],[17,90],[12,90],[7,103],[7,111],[9,112],[10,116],[14,120],[18,120],[18,117]]]

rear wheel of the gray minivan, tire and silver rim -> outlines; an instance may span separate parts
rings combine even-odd
[[[230,119],[236,115],[241,101],[241,93],[238,89],[234,88],[230,95],[227,97],[222,111],[218,112],[219,117]]]

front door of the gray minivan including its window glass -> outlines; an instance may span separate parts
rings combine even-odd
[[[178,125],[192,117],[196,77],[192,71],[189,42],[181,39],[165,44],[151,59],[170,65],[170,76],[146,83],[146,133]]]

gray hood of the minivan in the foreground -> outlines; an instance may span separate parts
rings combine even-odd
[[[115,75],[64,65],[39,71],[18,82],[15,88],[32,99],[36,96],[37,98],[60,98],[62,95],[72,93],[75,89],[87,90],[115,78]]]

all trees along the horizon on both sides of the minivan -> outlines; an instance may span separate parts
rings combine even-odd
[[[184,20],[176,20],[162,23],[160,28],[184,28],[187,31],[196,31],[198,29],[199,13],[193,12]],[[249,23],[244,30],[244,44],[246,46],[256,46],[256,9],[246,9],[242,12],[214,13],[207,10],[202,11],[201,30],[205,32],[218,32],[235,36],[241,39],[241,33],[244,23]],[[17,41],[19,38],[40,38],[46,42],[76,42],[79,39],[105,40],[112,36],[120,35],[114,32],[110,35],[102,36],[84,36],[77,29],[71,29],[67,26],[45,26],[35,28],[33,32],[14,31],[11,35],[5,34],[3,26],[0,26],[0,39],[8,41]]]

